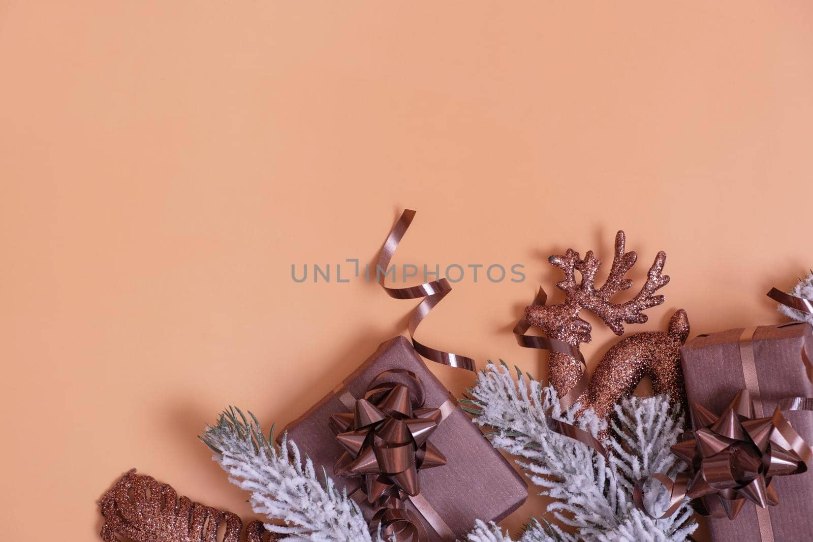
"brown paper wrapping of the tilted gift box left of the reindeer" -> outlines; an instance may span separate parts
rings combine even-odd
[[[347,392],[363,397],[367,384],[380,372],[406,369],[420,376],[426,390],[426,407],[439,407],[449,397],[449,391],[432,374],[409,340],[403,336],[381,343],[352,375],[344,380]],[[358,488],[353,479],[333,475],[333,464],[343,449],[328,426],[331,414],[347,412],[335,392],[329,392],[301,418],[285,427],[288,437],[313,460],[324,466],[336,483],[348,492]],[[283,432],[285,432],[283,431]],[[463,410],[455,406],[433,433],[430,442],[446,456],[446,465],[420,472],[420,494],[437,514],[462,537],[471,531],[476,519],[500,521],[519,508],[528,497],[523,479],[506,459],[493,448]],[[411,503],[407,508],[424,523],[431,542],[441,542],[440,536],[424,521]],[[362,505],[367,519],[375,510]]]

